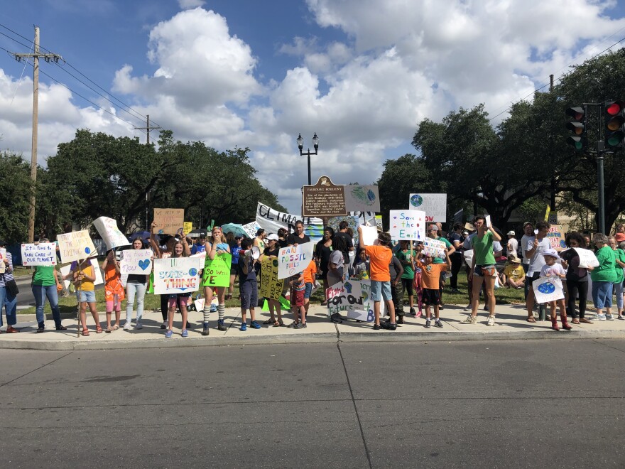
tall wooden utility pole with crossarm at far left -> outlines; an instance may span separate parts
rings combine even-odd
[[[28,242],[33,242],[35,238],[35,191],[37,183],[37,136],[38,136],[38,119],[39,119],[39,59],[43,58],[46,62],[54,60],[58,63],[62,57],[55,53],[41,54],[39,53],[39,27],[35,26],[35,42],[33,53],[17,54],[11,53],[13,57],[21,62],[22,59],[33,59],[33,140],[31,144],[31,179],[33,187],[31,188],[31,213],[28,217]]]

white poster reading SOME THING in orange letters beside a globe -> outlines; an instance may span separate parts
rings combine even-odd
[[[200,289],[200,259],[167,257],[154,259],[154,293],[190,293]]]

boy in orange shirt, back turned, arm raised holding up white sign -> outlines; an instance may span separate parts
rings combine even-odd
[[[391,295],[391,272],[388,264],[391,264],[393,251],[388,247],[391,242],[391,235],[386,232],[378,233],[378,245],[366,246],[362,239],[362,227],[358,227],[358,237],[360,248],[364,249],[369,256],[369,270],[371,277],[371,299],[374,301],[375,323],[374,330],[381,328],[395,330],[397,323],[395,320],[395,306],[393,306],[393,296]],[[380,325],[380,301],[384,298],[390,320]]]

